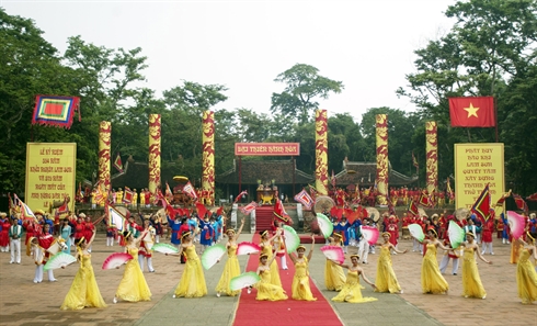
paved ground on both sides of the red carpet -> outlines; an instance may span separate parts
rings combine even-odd
[[[250,240],[243,234],[240,240]],[[317,245],[319,248],[322,244]],[[412,248],[403,240],[401,249]],[[364,304],[335,303],[333,307],[344,325],[536,325],[537,305],[523,305],[516,293],[516,267],[509,263],[509,245],[494,239],[495,256],[487,256],[492,266],[479,263],[481,279],[488,292],[485,300],[460,296],[460,271],[447,274],[448,295],[421,293],[421,255],[408,252],[393,256],[393,267],[404,294],[374,293],[370,286],[363,290],[365,296],[375,296],[377,302]],[[112,303],[123,269],[102,270],[102,261],[119,247],[106,247],[104,235],[99,234],[92,252],[92,263],[106,308],[85,308],[78,312],[59,310],[77,272],[77,266],[55,272],[58,282],[32,282],[34,265],[23,252],[22,265],[10,265],[9,254],[0,252],[0,324],[1,325],[231,325],[237,308],[237,297],[216,297],[214,288],[218,282],[224,262],[206,271],[209,294],[203,299],[172,299],[184,265],[176,257],[155,254],[155,273],[146,272],[152,292],[150,302]],[[355,249],[351,248],[351,252]],[[248,257],[240,257],[241,267]],[[364,266],[369,279],[375,279],[376,259],[369,255],[369,265]],[[450,270],[450,266],[448,267]],[[324,258],[316,250],[310,265],[311,277],[327,299],[335,292],[323,290]],[[282,271],[285,272],[285,271]],[[46,278],[46,276],[45,276]],[[253,294],[253,293],[252,293]],[[270,304],[270,303],[266,303]],[[253,317],[254,318],[254,317]],[[252,323],[254,319],[252,319]],[[285,325],[281,321],[277,325]]]

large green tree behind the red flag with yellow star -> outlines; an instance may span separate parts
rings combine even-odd
[[[506,140],[526,138],[519,128],[511,127],[524,125],[537,116],[527,105],[519,106],[533,100],[526,89],[534,86],[537,1],[459,1],[448,7],[446,15],[456,19],[454,27],[446,36],[415,52],[418,71],[407,75],[409,86],[400,88],[398,93],[409,97],[419,106],[422,119],[435,120],[438,130],[446,128],[444,135],[439,134],[438,143],[446,144],[448,150],[455,143],[495,142],[495,131],[449,128],[447,98],[493,95],[498,104],[500,142],[505,142],[506,177],[521,187],[527,184],[528,179],[523,176],[529,171],[535,175],[537,166],[532,156],[521,153],[534,153],[535,147],[530,146],[535,144],[515,145],[521,142]],[[453,159],[444,160],[439,170],[453,171]]]

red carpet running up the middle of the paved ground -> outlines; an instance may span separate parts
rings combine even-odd
[[[255,234],[252,239],[259,244],[259,235]],[[317,257],[319,258],[319,257]],[[279,258],[276,257],[281,268]],[[252,255],[248,259],[247,271],[258,270],[259,255]],[[235,316],[235,326],[260,326],[260,325],[342,325],[340,318],[335,315],[332,306],[327,302],[321,292],[317,289],[313,282],[310,281],[311,292],[317,301],[306,302],[290,299],[290,285],[295,267],[289,257],[287,257],[288,270],[279,269],[279,278],[282,285],[289,296],[284,301],[256,301],[256,290],[252,289],[252,293],[248,294],[247,290],[242,290],[239,299]]]

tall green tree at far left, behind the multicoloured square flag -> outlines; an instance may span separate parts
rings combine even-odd
[[[0,8],[0,192],[22,194],[26,143],[60,140],[68,132],[32,126],[36,94],[70,93],[72,71],[34,22]]]

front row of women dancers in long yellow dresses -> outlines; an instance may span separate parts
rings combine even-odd
[[[237,258],[238,237],[242,231],[244,221],[242,221],[239,231],[236,233],[233,229],[227,231],[228,241],[226,244],[228,260],[224,268],[221,278],[216,286],[217,296],[226,294],[230,296],[238,295],[240,290],[232,291],[230,289],[230,280],[238,277],[240,273],[239,261]],[[125,272],[123,279],[118,285],[113,302],[118,300],[137,302],[149,301],[151,292],[145,281],[144,274],[138,262],[138,254],[142,250],[142,241],[148,235],[148,228],[146,228],[139,237],[135,238],[128,231],[124,233],[125,238],[125,251],[133,256],[134,259],[128,260],[125,266]],[[95,233],[93,232],[90,240],[84,237],[77,239],[77,259],[80,262],[80,268],[75,277],[64,304],[62,310],[80,310],[83,307],[94,306],[104,307],[106,304],[102,299],[93,269],[91,267],[91,254],[89,247],[94,239]],[[448,284],[442,276],[437,259],[437,248],[444,250],[450,250],[448,246],[443,245],[438,238],[434,228],[427,231],[429,238],[423,240],[426,246],[426,254],[422,262],[421,281],[423,293],[445,293],[447,294]],[[278,228],[272,236],[268,232],[261,232],[261,255],[260,265],[256,273],[260,276],[261,281],[253,284],[253,288],[258,290],[258,300],[278,301],[287,300],[287,294],[282,288],[279,281],[279,271],[275,256],[273,254],[274,243],[283,241],[283,229]],[[480,297],[484,299],[487,293],[481,283],[479,271],[477,268],[476,256],[483,260],[485,263],[492,263],[487,260],[479,250],[475,241],[475,234],[467,233],[467,241],[462,243],[464,248],[464,261],[462,261],[462,295],[466,297]],[[521,257],[517,265],[517,285],[518,295],[523,303],[532,303],[537,301],[537,272],[535,271],[530,258],[532,256],[537,259],[536,252],[536,234],[527,234],[528,241],[524,241],[522,238],[517,239],[524,247],[521,251]],[[339,246],[341,244],[341,236],[334,234],[330,239],[331,246]],[[324,282],[328,290],[339,291],[332,300],[335,302],[369,302],[375,301],[374,297],[363,297],[359,284],[359,276],[364,281],[370,284],[377,292],[401,293],[401,286],[397,281],[396,274],[392,269],[392,261],[390,250],[398,254],[404,254],[393,247],[389,241],[390,234],[382,233],[382,243],[377,244],[380,246],[380,257],[377,263],[377,276],[375,283],[368,280],[364,270],[358,266],[358,255],[351,256],[351,263],[342,263],[335,260],[327,259],[324,270]],[[205,283],[205,277],[203,273],[201,260],[197,256],[194,239],[191,232],[184,232],[181,236],[180,250],[176,254],[169,254],[172,256],[186,256],[186,266],[181,277],[179,285],[176,286],[173,296],[174,297],[201,297],[207,294],[207,286]],[[33,239],[31,239],[33,241]],[[141,245],[141,247],[140,247]],[[34,246],[34,245],[33,245]],[[278,247],[278,246],[276,246]],[[309,268],[308,262],[312,257],[315,248],[315,237],[312,237],[312,245],[309,254],[306,256],[306,248],[299,246],[297,252],[290,255],[290,259],[295,265],[295,277],[292,285],[292,297],[294,300],[315,301],[309,286]],[[277,252],[277,251],[276,251]],[[167,254],[168,255],[168,254]],[[342,268],[349,269],[346,277],[344,276]],[[250,293],[251,288],[248,292]]]

